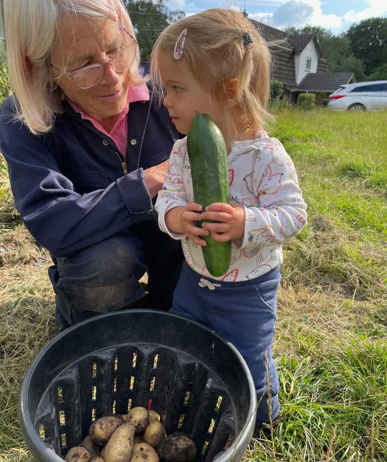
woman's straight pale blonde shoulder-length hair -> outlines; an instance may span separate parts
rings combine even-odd
[[[15,119],[33,134],[52,129],[62,113],[64,94],[52,78],[48,57],[60,41],[58,34],[64,14],[90,19],[109,18],[134,36],[130,17],[121,0],[4,0],[5,37],[9,80],[16,95]],[[128,69],[132,85],[139,77],[140,54]]]

